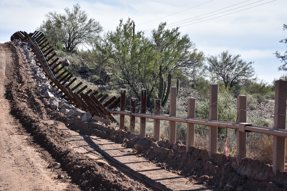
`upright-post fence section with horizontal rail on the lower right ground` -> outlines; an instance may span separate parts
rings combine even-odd
[[[125,92],[125,90],[122,90]],[[210,102],[209,102],[209,119],[195,119],[195,98],[188,99],[187,117],[176,116],[176,87],[170,87],[170,110],[169,116],[160,115],[160,100],[154,101],[154,114],[146,114],[146,90],[141,90],[141,113],[135,113],[135,101],[131,99],[131,111],[125,111],[121,107],[121,111],[108,110],[112,114],[121,116],[129,115],[131,133],[135,129],[135,117],[140,117],[140,137],[146,136],[146,118],[154,119],[154,141],[160,140],[160,120],[169,121],[169,144],[176,142],[176,122],[187,123],[187,151],[190,146],[194,146],[194,125],[206,125],[209,127],[209,156],[212,157],[217,152],[217,129],[230,128],[236,130],[236,156],[239,164],[241,158],[246,157],[246,137],[247,132],[263,133],[273,135],[273,171],[285,170],[285,138],[287,137],[286,130],[286,99],[287,99],[287,81],[276,81],[275,90],[275,111],[274,111],[274,128],[252,125],[247,122],[247,97],[237,96],[237,121],[226,122],[217,121],[218,116],[218,84],[210,84]],[[121,93],[121,100],[125,100],[125,93]],[[125,123],[124,118],[120,120],[120,127]]]

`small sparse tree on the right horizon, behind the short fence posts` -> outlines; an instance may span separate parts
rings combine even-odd
[[[253,62],[246,62],[241,55],[222,51],[218,55],[208,56],[205,70],[207,76],[224,83],[225,88],[242,84],[245,80],[256,79]]]

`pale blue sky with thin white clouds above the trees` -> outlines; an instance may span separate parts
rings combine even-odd
[[[168,29],[179,27],[188,34],[205,56],[223,50],[241,54],[254,62],[257,77],[267,83],[286,72],[273,53],[287,50],[286,0],[0,0],[0,43],[8,42],[16,31],[34,32],[49,11],[63,13],[79,3],[90,17],[103,26],[103,33],[114,31],[119,20],[135,21],[135,31],[145,31],[167,22]],[[180,22],[181,21],[181,22]]]

